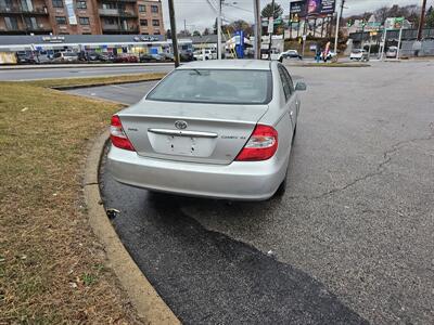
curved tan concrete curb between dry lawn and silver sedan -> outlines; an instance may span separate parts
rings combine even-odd
[[[107,139],[108,132],[95,139],[86,160],[84,192],[89,223],[139,316],[146,324],[181,324],[129,256],[101,205],[98,170]]]

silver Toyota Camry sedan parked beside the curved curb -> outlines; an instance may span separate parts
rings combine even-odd
[[[118,182],[151,191],[281,194],[305,89],[275,61],[182,65],[112,117],[108,168]]]

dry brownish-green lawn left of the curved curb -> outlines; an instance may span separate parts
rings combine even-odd
[[[0,324],[140,321],[104,266],[81,191],[89,140],[120,105],[47,87],[146,76],[0,82]]]

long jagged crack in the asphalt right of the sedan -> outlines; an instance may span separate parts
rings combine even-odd
[[[424,138],[414,138],[414,139],[410,139],[410,140],[405,140],[405,141],[399,141],[395,144],[392,145],[392,147],[387,151],[385,151],[383,153],[383,161],[381,161],[379,164],[379,166],[376,167],[375,171],[372,172],[368,172],[367,174],[357,178],[355,180],[353,180],[352,182],[345,184],[344,186],[341,187],[335,187],[332,188],[330,191],[327,191],[324,193],[321,193],[319,195],[315,195],[315,196],[308,196],[308,195],[302,195],[302,196],[290,196],[289,199],[320,199],[323,198],[326,196],[329,195],[333,195],[337,192],[342,192],[347,190],[348,187],[357,184],[358,182],[362,182],[367,179],[373,178],[375,176],[382,174],[384,172],[384,167],[391,162],[392,157],[391,155],[395,154],[397,151],[399,151],[400,148],[403,148],[404,146],[406,146],[407,144],[413,143],[413,142],[418,142],[418,141],[429,141],[429,140],[433,140],[434,139],[434,122],[430,122],[429,128],[431,129],[430,135],[429,136],[424,136]]]

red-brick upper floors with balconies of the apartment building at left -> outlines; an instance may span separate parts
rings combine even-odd
[[[161,0],[0,0],[0,35],[164,35]]]

